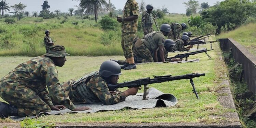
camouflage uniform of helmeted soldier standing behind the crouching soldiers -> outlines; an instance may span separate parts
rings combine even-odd
[[[152,28],[152,25],[154,24],[154,19],[151,13],[145,12],[142,15],[141,19],[141,28],[142,30],[147,30],[147,33],[144,33],[144,35],[154,31]]]

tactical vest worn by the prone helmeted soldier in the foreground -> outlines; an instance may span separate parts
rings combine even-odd
[[[86,87],[86,83],[95,75],[99,75],[99,71],[91,72],[90,74],[85,75],[84,77],[78,79],[72,86],[73,90],[75,90],[75,95],[86,100],[86,103],[88,104],[93,103],[94,101],[91,99],[95,99],[95,97]]]

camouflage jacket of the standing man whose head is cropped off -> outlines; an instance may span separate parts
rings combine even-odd
[[[139,5],[135,0],[127,0],[124,7],[123,18],[137,15],[139,16]],[[123,21],[122,32],[137,32],[138,19],[133,21]]]

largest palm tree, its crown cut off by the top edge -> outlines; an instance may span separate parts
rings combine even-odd
[[[94,17],[95,22],[97,23],[97,17],[98,17],[98,10],[102,8],[102,6],[108,5],[106,0],[81,0],[80,4],[81,8],[84,9],[94,9]]]

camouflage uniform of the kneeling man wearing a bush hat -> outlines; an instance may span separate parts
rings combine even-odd
[[[0,80],[1,98],[15,105],[19,116],[34,116],[51,111],[50,106],[54,105],[52,100],[70,110],[76,108],[68,94],[61,89],[56,66],[46,55],[49,54],[18,65]]]

